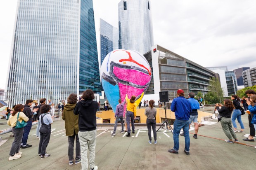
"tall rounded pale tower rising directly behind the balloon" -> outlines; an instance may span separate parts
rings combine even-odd
[[[119,49],[145,54],[154,44],[149,0],[121,0],[119,14]]]

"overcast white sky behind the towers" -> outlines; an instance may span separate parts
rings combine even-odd
[[[93,0],[99,18],[118,27],[120,0]],[[256,67],[255,0],[150,0],[154,44],[203,67]],[[17,0],[0,0],[0,88],[5,89]],[[97,35],[98,36],[98,35]]]

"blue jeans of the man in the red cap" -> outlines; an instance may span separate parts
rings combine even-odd
[[[185,151],[190,151],[190,135],[189,135],[189,121],[183,121],[179,119],[175,119],[173,124],[173,141],[174,141],[174,147],[173,149],[175,151],[179,150],[180,144],[179,144],[179,135],[180,130],[183,129],[184,137],[185,137]]]

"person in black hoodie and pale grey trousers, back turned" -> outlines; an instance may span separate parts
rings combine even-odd
[[[87,150],[89,149],[89,168],[97,170],[95,165],[95,146],[96,146],[96,112],[98,102],[93,101],[94,93],[91,89],[83,92],[82,100],[76,104],[74,114],[79,114],[79,142],[81,145],[81,165],[82,170],[88,169]]]

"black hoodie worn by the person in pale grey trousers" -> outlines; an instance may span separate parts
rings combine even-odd
[[[81,100],[76,104],[74,114],[79,114],[79,131],[92,131],[96,129],[96,112],[98,102],[93,100]]]

